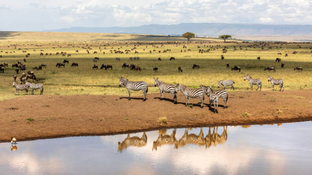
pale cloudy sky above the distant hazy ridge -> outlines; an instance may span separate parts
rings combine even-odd
[[[178,23],[312,24],[312,0],[0,0],[0,31]]]

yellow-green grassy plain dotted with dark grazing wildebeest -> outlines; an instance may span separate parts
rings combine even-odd
[[[16,74],[12,64],[17,61],[23,62],[23,59],[27,60],[23,63],[26,65],[25,72],[41,64],[47,65],[41,71],[32,70],[39,82],[43,83],[46,95],[127,96],[127,91],[118,87],[119,76],[133,81],[146,81],[150,86],[149,93],[159,92],[158,88],[153,86],[153,77],[159,77],[168,83],[182,83],[192,88],[198,88],[201,84],[217,88],[219,80],[233,79],[236,82],[235,91],[250,89],[248,81],[244,81],[245,74],[262,79],[263,90],[271,90],[268,75],[282,78],[285,91],[311,89],[312,85],[311,43],[261,43],[234,40],[224,43],[209,38],[195,38],[187,42],[186,39],[179,37],[127,34],[85,34],[84,36],[81,33],[11,33],[2,37],[0,50],[3,52],[0,53],[2,55],[0,63],[8,63],[9,67],[5,68],[5,73],[0,74],[0,100],[17,97],[12,87],[13,75]],[[187,48],[183,48],[184,45]],[[222,53],[224,47],[227,47],[226,53]],[[126,49],[133,50],[125,54]],[[163,51],[167,49],[171,51],[164,53]],[[211,50],[199,53],[199,49]],[[22,50],[27,52],[23,53]],[[90,53],[88,54],[86,50]],[[124,53],[116,54],[114,51],[111,53],[110,50],[120,50]],[[135,50],[139,53],[135,54]],[[94,51],[97,51],[97,54],[93,54]],[[297,54],[293,54],[294,51],[297,51]],[[40,56],[41,52],[44,56]],[[66,52],[66,56],[56,55],[56,52]],[[278,55],[278,52],[281,52],[281,55]],[[30,53],[29,57],[25,57],[27,53]],[[45,56],[45,53],[52,55]],[[284,56],[286,53],[287,57]],[[224,60],[221,60],[221,54],[224,55]],[[93,62],[95,56],[99,57],[97,63]],[[135,56],[139,56],[140,61],[129,61],[129,57]],[[171,56],[175,57],[175,61],[169,61]],[[261,57],[260,61],[256,59],[258,56]],[[120,57],[121,61],[116,61],[116,57]],[[159,57],[162,61],[158,61]],[[281,63],[275,62],[276,57],[281,58],[285,64],[284,68],[281,68]],[[62,63],[64,59],[68,59],[69,64],[66,64],[65,68],[57,68],[56,64]],[[79,67],[70,67],[73,62],[78,63]],[[135,64],[142,71],[123,69],[121,68],[123,63]],[[231,71],[230,68],[226,68],[226,63],[229,63],[230,67],[239,66],[242,71]],[[113,70],[92,70],[94,64],[99,68],[102,64],[112,65]],[[198,64],[200,68],[192,69],[193,64]],[[154,66],[159,67],[158,72],[153,72]],[[183,69],[183,73],[178,72],[179,66]],[[276,72],[264,71],[267,66],[274,66]],[[296,66],[302,67],[303,72],[294,71]],[[21,74],[17,74],[17,79],[20,76]],[[142,93],[133,92],[133,94]]]

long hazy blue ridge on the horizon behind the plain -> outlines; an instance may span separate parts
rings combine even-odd
[[[181,35],[185,32],[196,35],[218,36],[241,35],[283,35],[312,36],[312,25],[268,25],[268,24],[230,24],[230,23],[180,23],[173,25],[149,24],[137,27],[70,27],[43,32],[80,33],[125,33],[151,35]]]

